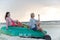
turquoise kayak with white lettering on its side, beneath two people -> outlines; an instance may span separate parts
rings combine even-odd
[[[10,36],[26,36],[26,37],[41,37],[41,38],[45,36],[43,32],[40,32],[38,30],[34,31],[28,28],[15,27],[15,26],[9,26],[8,29],[6,29],[6,26],[3,26],[0,29],[0,32]],[[47,33],[46,31],[44,32]]]

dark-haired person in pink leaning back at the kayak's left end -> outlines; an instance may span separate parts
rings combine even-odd
[[[23,26],[21,22],[19,22],[18,20],[13,20],[10,17],[10,12],[6,12],[5,20],[6,20],[7,29],[8,29],[8,26]]]

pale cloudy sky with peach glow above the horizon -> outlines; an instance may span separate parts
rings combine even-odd
[[[60,20],[60,0],[0,0],[0,22],[5,22],[5,14],[9,11],[11,18],[29,21],[30,14],[40,21]]]

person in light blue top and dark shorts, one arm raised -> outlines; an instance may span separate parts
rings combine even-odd
[[[34,13],[31,13],[31,19],[30,19],[30,24],[29,24],[30,29],[43,31],[42,28],[40,27],[40,19],[35,20],[34,17],[35,17]]]

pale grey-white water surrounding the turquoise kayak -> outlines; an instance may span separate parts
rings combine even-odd
[[[0,28],[5,24],[0,24]],[[60,40],[60,24],[59,22],[42,22],[41,28],[47,31],[47,34],[51,36],[52,40]],[[33,39],[33,38],[21,38],[15,36],[8,36],[0,34],[0,40],[45,40],[45,39]]]

